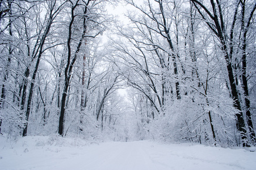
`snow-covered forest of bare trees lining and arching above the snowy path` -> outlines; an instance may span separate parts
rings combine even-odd
[[[0,133],[254,146],[255,0],[0,1]]]

